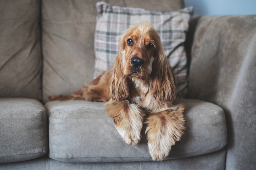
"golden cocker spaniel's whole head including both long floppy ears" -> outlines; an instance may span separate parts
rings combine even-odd
[[[152,93],[159,101],[166,103],[175,99],[172,70],[159,34],[150,23],[129,28],[120,37],[109,83],[113,99],[123,100],[129,96],[131,78],[149,80]]]

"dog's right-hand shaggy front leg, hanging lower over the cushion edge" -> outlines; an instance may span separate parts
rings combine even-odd
[[[150,113],[146,133],[149,154],[155,161],[162,161],[168,156],[171,146],[179,141],[185,130],[183,118],[184,106],[169,108],[157,113]]]

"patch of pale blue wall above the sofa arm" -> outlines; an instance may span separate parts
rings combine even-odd
[[[189,6],[195,16],[256,14],[256,0],[185,0],[185,7]]]

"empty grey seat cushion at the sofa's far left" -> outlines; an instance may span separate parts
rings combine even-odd
[[[46,154],[47,116],[35,99],[0,99],[0,163]]]

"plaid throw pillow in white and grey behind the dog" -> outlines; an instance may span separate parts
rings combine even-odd
[[[97,2],[95,30],[95,78],[106,71],[119,51],[118,37],[122,32],[138,23],[150,22],[159,33],[168,62],[173,67],[177,93],[187,93],[187,57],[184,48],[188,22],[193,7],[179,11],[160,12],[141,8],[111,6]]]

